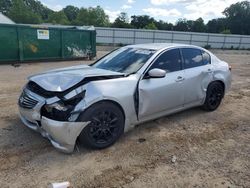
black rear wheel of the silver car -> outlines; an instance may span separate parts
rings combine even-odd
[[[224,87],[220,82],[212,82],[207,88],[205,102],[202,108],[206,111],[216,110],[224,96]]]

